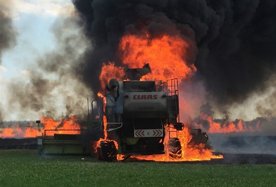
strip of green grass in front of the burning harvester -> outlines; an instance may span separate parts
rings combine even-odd
[[[276,165],[101,162],[0,150],[0,187],[273,187]]]

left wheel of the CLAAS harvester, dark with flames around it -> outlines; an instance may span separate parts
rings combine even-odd
[[[113,141],[103,141],[100,145],[98,156],[102,156],[103,161],[117,161],[117,149]]]

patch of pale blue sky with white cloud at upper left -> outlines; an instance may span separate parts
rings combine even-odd
[[[2,4],[3,3],[3,4]],[[16,45],[2,54],[1,79],[24,74],[26,63],[55,48],[50,28],[58,17],[73,10],[70,0],[1,0],[17,32]]]

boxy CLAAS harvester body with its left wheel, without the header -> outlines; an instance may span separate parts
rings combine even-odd
[[[165,133],[177,142],[177,132],[184,128],[179,122],[178,81],[139,81],[150,72],[146,64],[126,71],[130,81],[113,78],[108,82],[103,102],[107,137],[100,142],[99,159],[112,161],[116,154],[165,154]]]

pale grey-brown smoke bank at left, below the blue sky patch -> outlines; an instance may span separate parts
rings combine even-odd
[[[7,83],[5,114],[24,120],[39,120],[39,115],[57,120],[69,115],[86,119],[86,98],[93,92],[79,80],[75,67],[81,63],[80,54],[91,44],[80,34],[77,19],[74,12],[58,18],[51,28],[57,41],[55,49],[29,64],[20,79],[15,77]]]

